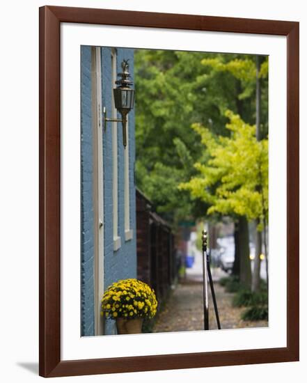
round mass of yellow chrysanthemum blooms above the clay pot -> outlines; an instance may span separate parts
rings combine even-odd
[[[102,315],[107,318],[152,318],[157,313],[155,291],[137,279],[112,283],[102,297]]]

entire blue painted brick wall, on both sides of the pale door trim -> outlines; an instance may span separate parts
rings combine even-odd
[[[91,120],[90,47],[81,47],[81,335],[94,334],[94,235],[93,235],[93,136]],[[117,49],[117,72],[123,58],[129,58],[133,79],[133,49]],[[102,105],[111,116],[111,49],[102,48]],[[120,115],[118,115],[120,118]],[[134,186],[134,111],[129,113],[129,205],[132,240],[125,241],[125,153],[123,132],[118,124],[118,235],[121,247],[113,251],[113,162],[111,123],[103,132],[104,180],[104,289],[118,279],[136,278],[136,201]],[[114,334],[113,321],[105,334]]]

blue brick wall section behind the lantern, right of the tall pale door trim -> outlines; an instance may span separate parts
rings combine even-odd
[[[129,58],[129,72],[133,77],[133,49],[117,49],[117,72],[121,72],[120,66],[123,58]],[[102,104],[107,107],[111,116],[111,92],[114,84],[111,84],[111,49],[102,49]],[[118,114],[120,118],[120,114]],[[125,153],[123,146],[123,130],[118,123],[118,235],[121,239],[121,247],[113,251],[113,163],[112,163],[112,129],[111,123],[107,124],[107,132],[104,134],[104,288],[118,279],[136,278],[136,209],[134,188],[134,111],[129,113],[129,174],[130,182],[130,228],[134,236],[132,240],[125,242]],[[106,334],[114,334],[113,321],[107,321]]]

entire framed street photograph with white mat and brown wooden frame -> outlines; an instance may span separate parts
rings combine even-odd
[[[299,360],[299,23],[40,8],[40,375]]]

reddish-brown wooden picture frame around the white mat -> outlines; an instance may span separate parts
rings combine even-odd
[[[60,25],[258,33],[287,38],[287,347],[61,361]],[[40,344],[42,377],[299,360],[299,23],[125,10],[40,8]]]

